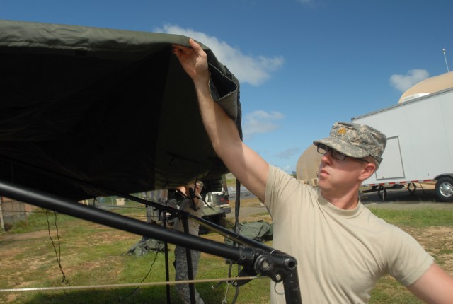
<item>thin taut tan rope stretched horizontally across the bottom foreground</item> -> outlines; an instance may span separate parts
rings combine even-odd
[[[268,276],[241,276],[232,281],[244,281],[253,279],[268,279]],[[64,291],[70,289],[95,289],[95,288],[123,288],[123,287],[137,287],[137,286],[162,286],[162,285],[176,285],[188,283],[207,283],[231,281],[231,278],[221,279],[199,279],[199,280],[186,280],[186,281],[171,281],[171,282],[149,282],[149,283],[123,283],[123,284],[107,284],[107,285],[89,285],[89,286],[61,286],[61,287],[34,287],[34,288],[6,288],[0,289],[0,293],[16,293],[21,291]]]

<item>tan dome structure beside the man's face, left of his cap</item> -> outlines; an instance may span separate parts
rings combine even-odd
[[[316,186],[318,183],[318,168],[321,163],[321,154],[316,151],[316,146],[311,145],[297,160],[296,177],[297,180],[306,184]]]

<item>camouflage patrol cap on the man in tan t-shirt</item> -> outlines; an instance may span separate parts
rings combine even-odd
[[[382,132],[366,124],[351,122],[336,122],[328,137],[313,142],[315,145],[325,144],[353,158],[372,156],[378,163],[382,161],[386,143],[387,138]]]

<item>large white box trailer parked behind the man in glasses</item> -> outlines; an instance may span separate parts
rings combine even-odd
[[[373,188],[436,181],[442,201],[453,201],[453,87],[353,117],[387,136]]]

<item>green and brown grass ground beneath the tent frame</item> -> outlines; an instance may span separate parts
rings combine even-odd
[[[115,212],[128,216],[144,214],[143,208],[135,209],[133,206],[116,209]],[[42,209],[37,209],[36,212],[28,218],[28,226],[19,223],[6,235],[21,235],[33,231],[39,232],[38,234],[14,241],[0,240],[0,255],[8,255],[8,259],[1,259],[0,288],[67,286],[66,282],[62,282],[63,274],[59,270],[55,248],[49,238],[47,222],[50,223],[50,235],[57,252],[61,250],[60,262],[64,278],[71,286],[165,281],[164,253],[152,252],[144,257],[126,254],[127,250],[140,240],[140,236],[64,214],[57,214],[55,218],[52,211],[46,214]],[[207,235],[207,238],[210,238],[210,235]],[[169,247],[169,276],[173,281],[175,274],[171,263],[174,260],[174,245],[170,244]],[[237,269],[236,265],[234,269]],[[233,275],[235,274],[236,271],[233,271]],[[227,275],[228,265],[224,259],[203,254],[197,279],[225,278]],[[257,303],[257,293],[260,299],[258,303],[266,303],[269,282],[268,278],[258,279],[242,286],[239,303]],[[212,286],[216,285],[217,282],[197,284],[197,290],[202,294],[205,303],[220,303],[224,299],[226,283],[213,289]],[[130,287],[0,293],[0,303],[115,304],[150,303],[150,299],[152,303],[166,303],[166,286],[141,287],[133,292],[134,290],[134,287]],[[171,303],[181,303],[173,286],[170,290]],[[234,291],[234,288],[229,288],[229,303],[234,297]]]

